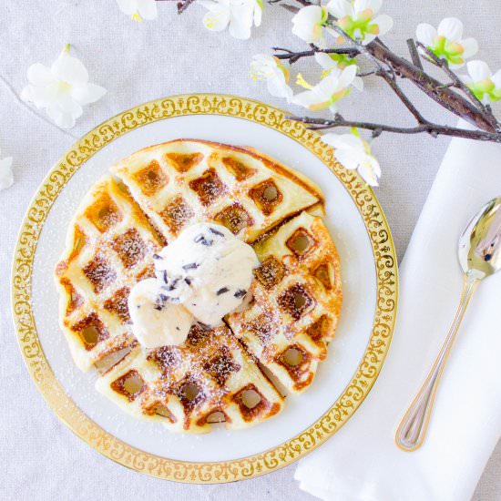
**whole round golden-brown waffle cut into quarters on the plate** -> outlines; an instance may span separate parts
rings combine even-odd
[[[70,224],[56,266],[60,323],[82,370],[124,411],[170,431],[246,428],[278,414],[284,390],[312,383],[342,302],[339,260],[312,181],[252,148],[177,140],[145,148],[99,179]],[[195,222],[227,226],[261,267],[247,310],[194,325],[185,343],[148,350],[128,291],[152,255]]]

